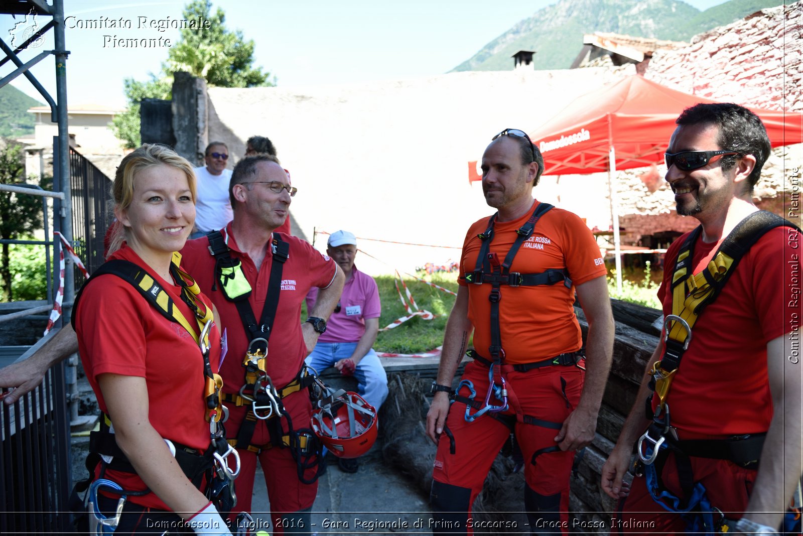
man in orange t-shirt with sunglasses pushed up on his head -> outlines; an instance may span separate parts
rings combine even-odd
[[[430,528],[471,532],[471,505],[515,432],[530,530],[567,532],[574,451],[593,440],[613,350],[605,264],[580,217],[532,197],[544,159],[526,133],[494,136],[482,169],[485,201],[498,212],[466,234],[432,386],[426,428],[438,452]],[[589,323],[585,351],[575,291]],[[472,331],[474,361],[455,393]]]

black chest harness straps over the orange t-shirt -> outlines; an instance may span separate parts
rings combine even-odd
[[[499,300],[502,299],[502,294],[499,287],[502,285],[507,286],[536,286],[536,285],[554,285],[556,282],[564,282],[567,288],[571,288],[571,279],[565,274],[565,270],[550,268],[544,270],[540,274],[520,274],[518,272],[511,272],[510,267],[513,264],[513,258],[524,243],[525,240],[530,238],[533,229],[535,229],[536,222],[544,215],[552,205],[548,203],[539,203],[532,210],[532,214],[528,220],[519,229],[516,229],[516,241],[513,242],[510,250],[503,262],[500,264],[499,259],[495,253],[490,253],[491,241],[494,238],[494,223],[499,213],[495,213],[488,219],[488,228],[478,238],[482,241],[482,246],[479,248],[477,255],[477,265],[473,272],[464,276],[467,282],[481,285],[483,283],[491,283],[491,294],[488,295],[488,300],[491,302],[491,346],[488,347],[488,352],[491,355],[492,362],[495,364],[502,363],[504,359],[504,351],[502,348],[502,335],[499,328]]]

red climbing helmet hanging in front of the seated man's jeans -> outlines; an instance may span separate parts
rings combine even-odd
[[[377,441],[377,410],[356,392],[340,393],[318,403],[312,430],[335,456],[361,457]]]

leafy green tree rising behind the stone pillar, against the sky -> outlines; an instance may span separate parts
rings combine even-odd
[[[226,14],[221,8],[212,14],[212,2],[194,0],[184,8],[187,20],[202,18],[210,22],[209,29],[181,30],[178,42],[170,47],[167,61],[161,65],[161,75],[151,74],[148,82],[126,79],[124,92],[128,99],[126,112],[112,121],[116,136],[126,148],[136,148],[140,138],[140,102],[145,98],[169,99],[173,72],[187,71],[206,79],[209,86],[259,87],[272,86],[275,79],[253,67],[254,41],[246,40],[240,30],[226,28]]]

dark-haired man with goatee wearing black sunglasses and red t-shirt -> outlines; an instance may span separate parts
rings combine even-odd
[[[801,274],[800,230],[777,218],[752,246],[741,241],[749,249],[695,311],[711,284],[700,277],[724,272],[718,250],[728,234],[744,218],[756,225],[768,216],[752,191],[770,142],[761,120],[736,104],[697,104],[675,122],[666,181],[678,213],[701,225],[666,252],[664,334],[602,468],[602,489],[621,499],[611,534],[800,534],[799,518],[795,528],[783,514],[800,507],[801,306],[789,286]],[[634,444],[629,486],[622,478]]]

